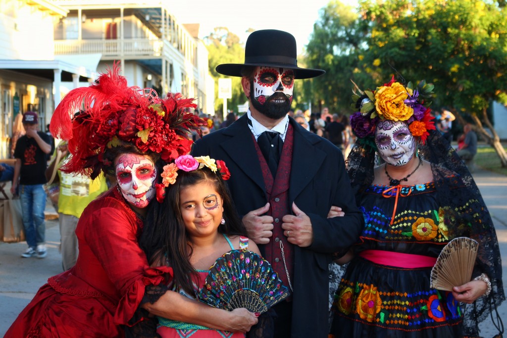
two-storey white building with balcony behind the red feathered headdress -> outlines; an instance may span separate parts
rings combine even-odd
[[[55,55],[100,54],[97,70],[121,63],[129,85],[195,97],[212,114],[214,83],[198,24],[178,23],[164,0],[53,0],[68,11],[54,26]]]

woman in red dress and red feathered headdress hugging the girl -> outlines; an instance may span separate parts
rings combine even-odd
[[[188,135],[200,121],[186,112],[195,107],[192,99],[128,87],[119,72],[115,64],[90,87],[70,91],[55,110],[51,132],[68,140],[73,155],[61,170],[92,179],[103,172],[118,183],[84,210],[76,265],[49,278],[6,337],[153,337],[150,314],[247,331],[257,323],[253,313],[214,309],[169,291],[172,269],[150,267],[138,244],[161,163],[190,151]]]

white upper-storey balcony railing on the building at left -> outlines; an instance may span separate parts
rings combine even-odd
[[[55,40],[55,54],[95,54],[102,57],[160,57],[162,40]]]

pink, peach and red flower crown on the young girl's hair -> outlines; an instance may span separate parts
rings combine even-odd
[[[165,188],[176,182],[178,170],[193,171],[203,167],[209,168],[214,173],[218,171],[223,180],[228,180],[231,177],[229,169],[222,160],[215,161],[210,159],[209,156],[193,157],[192,155],[183,155],[176,158],[173,163],[164,166],[163,172],[160,174],[162,183],[156,184],[157,200],[162,203],[165,198]]]

